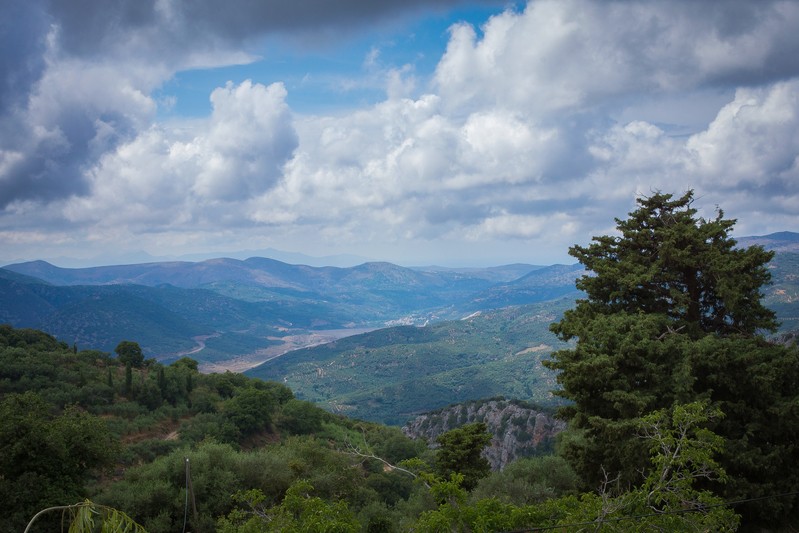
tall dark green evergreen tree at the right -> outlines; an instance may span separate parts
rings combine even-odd
[[[547,362],[571,400],[563,453],[589,487],[617,474],[640,483],[646,450],[635,419],[706,399],[726,415],[713,429],[727,440],[730,480],[717,490],[731,499],[792,492],[799,365],[795,348],[763,336],[777,326],[760,301],[773,254],[737,247],[734,220],[721,210],[697,217],[692,204],[692,191],[640,198],[616,219],[618,235],[570,249],[588,271],[577,282],[585,298],[551,328],[573,348]],[[765,500],[747,514],[784,518],[795,503]]]

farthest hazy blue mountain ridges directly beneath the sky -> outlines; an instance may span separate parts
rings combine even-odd
[[[354,324],[380,325],[407,315],[423,321],[435,310],[474,309],[474,295],[532,266],[505,266],[475,271],[424,271],[391,263],[355,267],[291,265],[268,258],[220,258],[190,262],[145,263],[92,268],[60,268],[44,261],[8,265],[7,270],[54,285],[171,285],[206,288],[245,301],[326,302],[338,306]],[[493,280],[492,280],[493,279]],[[514,303],[541,301],[548,295],[528,294]],[[501,299],[494,305],[504,305]]]

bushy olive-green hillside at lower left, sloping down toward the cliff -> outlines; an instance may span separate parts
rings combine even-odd
[[[331,415],[276,383],[204,375],[196,361],[122,364],[75,351],[35,330],[0,327],[0,530],[22,531],[40,509],[85,497],[124,510],[151,532],[180,531],[186,459],[194,531],[212,531],[258,490],[277,504],[287,491],[359,502],[367,522],[407,498],[407,474],[364,463],[351,450],[398,463],[426,446],[396,428]],[[325,504],[328,505],[328,504]],[[377,506],[377,507],[375,507]],[[369,511],[368,509],[372,509]],[[54,531],[60,516],[39,522]]]

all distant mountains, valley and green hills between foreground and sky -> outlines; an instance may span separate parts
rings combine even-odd
[[[777,250],[764,302],[799,331],[799,234],[740,239]],[[448,404],[506,396],[551,407],[541,361],[580,293],[580,264],[314,267],[252,257],[0,269],[0,323],[79,348],[138,342],[205,371],[247,371],[356,418],[402,424]],[[423,392],[422,392],[423,391]]]

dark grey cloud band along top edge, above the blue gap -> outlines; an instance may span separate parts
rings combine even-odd
[[[152,31],[157,44],[174,47],[203,40],[236,45],[272,32],[300,32],[306,38],[318,36],[320,30],[346,32],[404,13],[467,3],[507,4],[499,0],[176,0],[159,5],[154,0],[50,0],[46,8],[63,32],[65,50],[91,55],[102,53],[127,32]]]

